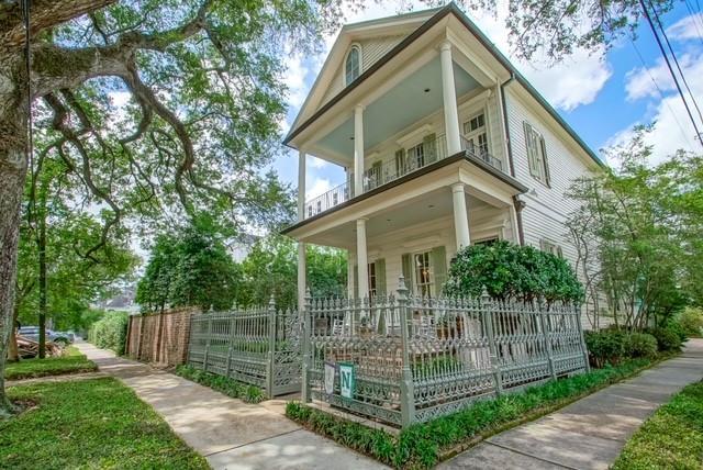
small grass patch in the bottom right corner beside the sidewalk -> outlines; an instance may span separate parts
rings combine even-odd
[[[613,469],[703,468],[703,382],[661,406],[627,441]]]

